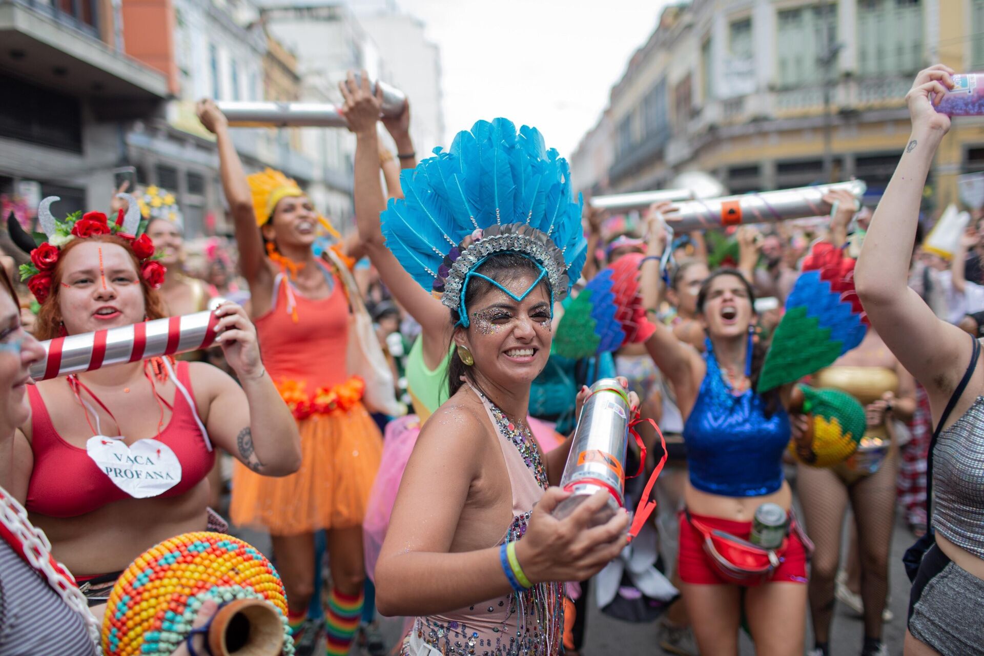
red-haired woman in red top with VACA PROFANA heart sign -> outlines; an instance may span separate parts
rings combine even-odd
[[[36,335],[160,318],[164,268],[147,235],[137,235],[133,199],[115,222],[100,212],[55,220],[54,200],[38,209],[47,241],[21,269],[41,304]],[[31,238],[10,225],[28,250]],[[149,358],[28,388],[31,419],[16,434],[15,466],[0,485],[26,501],[55,558],[81,574],[91,600],[105,598],[119,572],[154,544],[216,526],[206,479],[213,444],[268,476],[299,465],[297,429],[260,361],[256,329],[233,304],[215,316],[216,341],[242,387],[208,364]],[[105,464],[112,457],[119,467]],[[156,485],[135,485],[134,463]]]

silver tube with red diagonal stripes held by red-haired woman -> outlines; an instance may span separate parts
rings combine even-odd
[[[137,362],[207,348],[215,341],[215,312],[155,319],[42,341],[45,357],[31,366],[31,378],[45,381],[100,367]]]

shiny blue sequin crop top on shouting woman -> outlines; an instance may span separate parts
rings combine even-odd
[[[755,390],[733,394],[709,339],[704,359],[707,375],[683,428],[691,485],[723,497],[775,492],[790,437],[786,411],[780,407],[766,417],[766,402]]]

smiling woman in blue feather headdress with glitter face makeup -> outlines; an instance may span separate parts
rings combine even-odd
[[[364,110],[367,89],[346,93],[356,183],[378,190],[378,108]],[[551,516],[566,497],[550,485],[570,441],[545,453],[529,430],[529,388],[549,357],[554,302],[586,255],[570,169],[535,129],[495,119],[404,170],[400,185],[404,198],[382,214],[389,266],[398,262],[418,290],[400,302],[430,308],[444,325],[438,339],[450,336],[454,350],[451,396],[423,424],[403,472],[376,564],[377,606],[415,618],[402,654],[464,645],[558,654],[561,581],[584,580],[615,558],[628,528],[620,512],[587,529],[603,496],[563,520]],[[366,246],[384,273],[380,245]],[[435,299],[440,306],[427,305]],[[438,363],[447,344],[434,349]]]

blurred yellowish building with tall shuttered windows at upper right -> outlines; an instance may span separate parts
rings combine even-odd
[[[875,198],[909,134],[915,74],[935,61],[979,70],[981,33],[984,0],[669,7],[611,90],[605,190],[658,189],[698,169],[733,193],[858,177]],[[931,174],[938,204],[956,200],[959,173],[984,170],[979,144],[984,119],[954,121]],[[579,161],[575,180],[602,179],[593,165]]]

